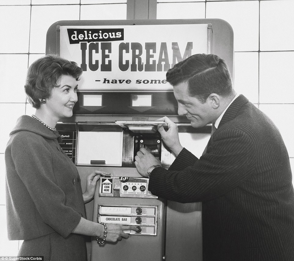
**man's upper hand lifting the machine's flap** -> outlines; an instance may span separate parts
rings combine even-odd
[[[177,157],[181,150],[183,149],[178,134],[178,126],[167,116],[158,119],[164,121],[167,124],[168,130],[165,131],[162,124],[158,124],[157,129],[162,137],[162,140],[165,145],[175,154]]]

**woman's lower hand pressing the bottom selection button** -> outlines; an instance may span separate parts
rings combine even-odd
[[[102,226],[102,232],[101,235],[99,236],[100,239],[104,237],[104,226]],[[124,233],[123,230],[134,230],[138,231],[138,228],[136,226],[124,226],[121,224],[112,224],[112,223],[107,223],[107,234],[105,241],[107,242],[116,242],[122,240],[122,238],[128,238],[129,235]]]

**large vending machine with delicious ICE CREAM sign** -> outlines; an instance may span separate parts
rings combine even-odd
[[[47,32],[50,53],[83,69],[73,116],[57,123],[60,145],[76,165],[83,189],[94,170],[108,173],[85,204],[86,219],[138,227],[125,230],[129,238],[116,243],[87,237],[88,261],[201,261],[201,202],[153,195],[134,157],[144,147],[164,168],[175,160],[157,131],[163,116],[178,125],[182,145],[201,156],[211,127],[195,129],[178,116],[165,75],[196,53],[218,54],[233,75],[230,25],[220,19],[58,21]]]

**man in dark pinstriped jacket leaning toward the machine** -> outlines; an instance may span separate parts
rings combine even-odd
[[[194,128],[212,123],[198,159],[182,147],[177,126],[158,127],[176,159],[166,170],[141,148],[135,166],[156,196],[202,201],[203,259],[294,260],[294,192],[289,156],[277,127],[233,90],[224,60],[195,54],[167,72],[178,114]]]

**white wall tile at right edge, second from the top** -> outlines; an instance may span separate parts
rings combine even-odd
[[[294,52],[259,54],[260,103],[294,102]]]

